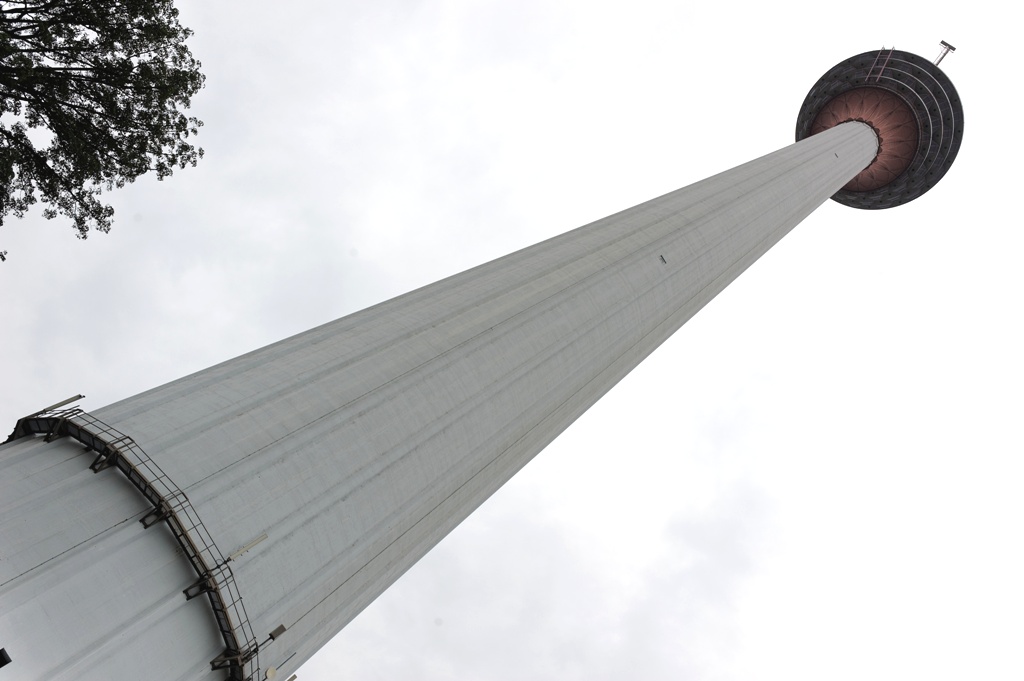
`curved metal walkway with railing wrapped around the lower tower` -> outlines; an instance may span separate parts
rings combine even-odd
[[[144,527],[166,522],[198,577],[183,591],[185,598],[190,600],[205,593],[213,608],[224,639],[224,652],[210,662],[211,667],[225,670],[231,681],[254,681],[259,674],[259,642],[246,615],[234,574],[185,493],[131,437],[80,409],[51,408],[27,416],[18,420],[6,441],[32,434],[43,435],[46,441],[68,436],[82,442],[86,452],[96,453],[89,466],[94,473],[117,468],[145,497],[153,510],[140,522]]]

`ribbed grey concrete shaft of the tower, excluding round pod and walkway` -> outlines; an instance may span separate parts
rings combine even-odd
[[[878,147],[869,126],[837,125],[94,415],[187,495],[233,556],[256,638],[285,626],[260,665],[291,674]],[[144,661],[140,650],[165,644],[168,619],[200,616],[179,602],[195,577],[173,542],[124,522],[144,511],[127,482],[93,475],[68,446],[23,438],[2,448],[15,469],[0,476],[0,546],[15,547],[0,562],[8,653],[49,679],[222,678],[209,645],[182,636],[169,655],[177,667],[134,670],[125,659],[112,676],[111,661]],[[121,485],[92,502],[105,520],[57,527],[55,509],[88,503],[101,485]],[[90,576],[152,587],[152,576],[127,567],[143,541],[159,556],[145,569],[164,570],[166,593],[138,607],[163,607],[160,626],[83,622],[68,595],[94,588]],[[76,574],[76,560],[91,571]],[[41,600],[67,609],[40,613]],[[144,614],[123,609],[129,624]],[[28,633],[35,627],[47,628],[43,641]],[[216,631],[203,627],[203,636]],[[82,651],[97,664],[76,666]]]

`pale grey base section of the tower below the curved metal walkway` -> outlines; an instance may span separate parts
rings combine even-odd
[[[3,681],[222,679],[207,599],[163,523],[121,473],[89,470],[70,439],[0,446]]]

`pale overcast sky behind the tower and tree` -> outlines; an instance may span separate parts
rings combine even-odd
[[[299,670],[1020,679],[1019,36],[994,4],[179,2],[198,168],[0,230],[0,423],[95,410],[790,143],[943,62],[959,157],[787,236]],[[902,8],[901,8],[902,7]]]

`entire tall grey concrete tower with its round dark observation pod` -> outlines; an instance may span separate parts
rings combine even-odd
[[[940,58],[814,84],[797,141],[0,446],[0,681],[289,679],[816,207],[931,189]]]

